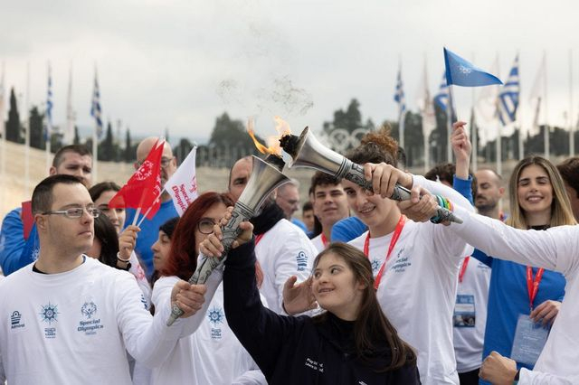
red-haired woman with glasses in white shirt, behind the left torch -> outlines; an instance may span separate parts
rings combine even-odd
[[[214,232],[214,225],[223,218],[228,206],[233,206],[231,197],[218,192],[205,192],[189,205],[176,225],[169,258],[153,287],[152,302],[155,306],[166,305],[175,282],[193,275],[199,244]],[[256,265],[256,276],[260,284],[262,273],[259,265]],[[225,320],[222,278],[223,269],[216,269],[205,283],[205,303],[195,315],[199,318],[197,327],[184,330],[186,336],[176,343],[166,361],[153,370],[152,384],[185,379],[192,384],[267,383]]]

